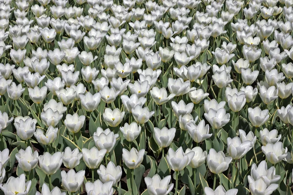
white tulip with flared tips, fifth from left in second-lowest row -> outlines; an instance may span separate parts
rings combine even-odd
[[[98,150],[96,147],[92,147],[90,150],[83,148],[82,152],[86,166],[90,169],[97,169],[103,161],[107,150]]]

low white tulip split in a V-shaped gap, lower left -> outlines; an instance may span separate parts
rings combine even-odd
[[[41,129],[37,129],[34,133],[34,136],[36,137],[39,143],[42,143],[43,145],[48,145],[55,141],[55,139],[57,138],[57,134],[58,128],[49,126],[45,133]]]

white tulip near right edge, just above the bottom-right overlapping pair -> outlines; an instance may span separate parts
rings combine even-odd
[[[287,147],[283,148],[283,143],[278,141],[276,143],[268,143],[266,146],[261,147],[262,152],[265,154],[268,161],[276,164],[287,156]]]

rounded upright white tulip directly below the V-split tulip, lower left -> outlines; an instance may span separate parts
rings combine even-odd
[[[40,168],[46,175],[55,174],[62,165],[62,154],[61,152],[56,152],[51,155],[45,152],[43,155],[39,156]]]

